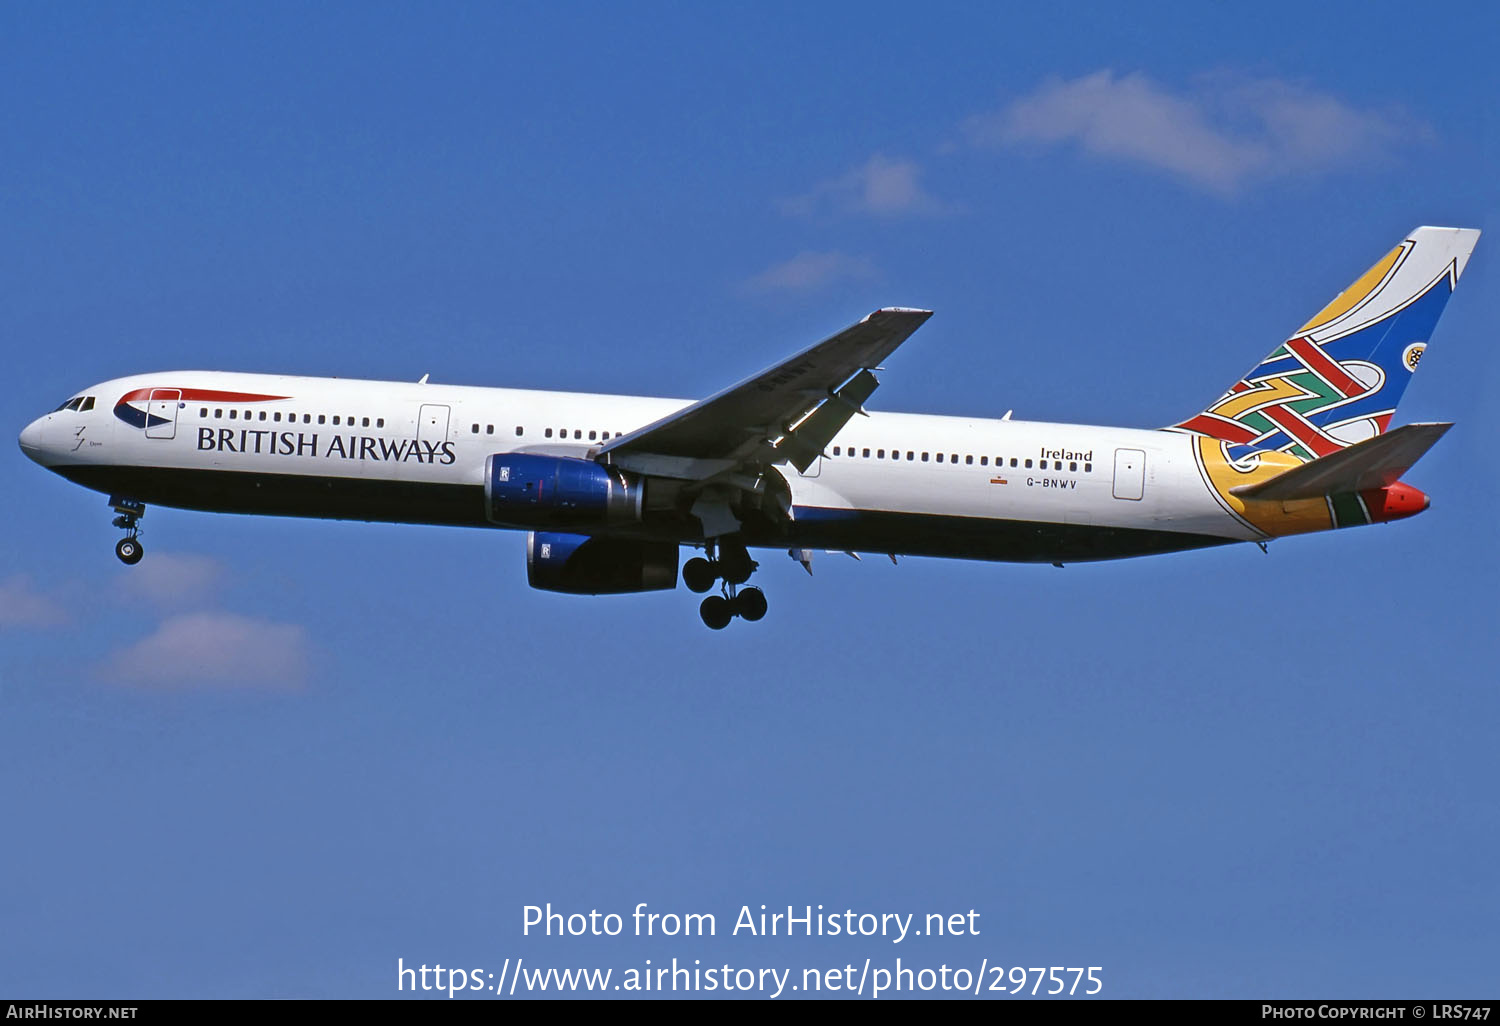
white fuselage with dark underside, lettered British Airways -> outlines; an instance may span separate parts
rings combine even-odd
[[[87,396],[92,410],[48,414],[21,446],[98,490],[202,510],[474,526],[494,526],[483,502],[489,456],[588,459],[604,440],[688,405],[208,370],[120,378]],[[1215,498],[1191,436],[1166,430],[872,412],[806,472],[780,472],[794,528],[753,543],[1053,561],[1264,537]],[[320,489],[354,490],[320,504]],[[1161,537],[1059,552],[1042,540],[1048,528]],[[1018,548],[984,543],[1005,531]]]

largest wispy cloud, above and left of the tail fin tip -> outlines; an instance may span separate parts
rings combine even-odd
[[[1076,144],[1215,192],[1377,158],[1431,130],[1394,111],[1359,110],[1275,78],[1206,76],[1173,93],[1144,75],[1052,78],[999,111],[969,118],[976,147]]]

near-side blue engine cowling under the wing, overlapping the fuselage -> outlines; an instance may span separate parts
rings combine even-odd
[[[512,526],[590,526],[640,519],[642,484],[591,459],[495,453],[484,464],[489,519]]]

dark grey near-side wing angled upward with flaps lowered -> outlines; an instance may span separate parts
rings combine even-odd
[[[708,482],[746,464],[790,462],[807,470],[862,412],[879,384],[872,370],[928,316],[932,310],[879,309],[736,386],[615,438],[596,456],[687,482]]]

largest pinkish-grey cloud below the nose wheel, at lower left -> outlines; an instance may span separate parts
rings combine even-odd
[[[100,675],[146,687],[296,687],[308,675],[308,632],[228,612],[168,616],[106,660]]]

